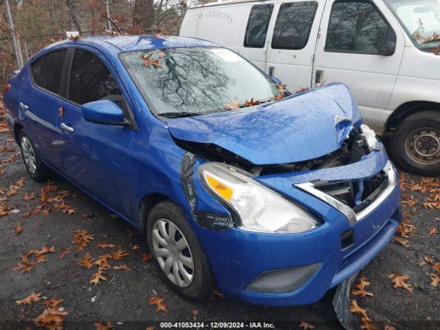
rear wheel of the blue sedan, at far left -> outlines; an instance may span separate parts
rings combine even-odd
[[[34,144],[26,134],[24,129],[19,133],[19,146],[21,149],[21,157],[25,163],[26,170],[34,181],[46,181],[51,174],[48,168],[42,161],[39,155],[36,154]]]

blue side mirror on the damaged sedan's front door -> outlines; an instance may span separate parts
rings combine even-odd
[[[124,111],[111,100],[98,100],[83,104],[83,118],[87,122],[104,125],[124,125]]]

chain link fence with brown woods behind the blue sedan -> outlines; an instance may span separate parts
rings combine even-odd
[[[103,34],[179,34],[186,0],[0,0],[0,83],[50,43]]]

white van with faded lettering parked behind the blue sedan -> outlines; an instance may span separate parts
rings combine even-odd
[[[219,1],[181,36],[234,50],[289,91],[340,81],[395,162],[440,175],[439,0]]]

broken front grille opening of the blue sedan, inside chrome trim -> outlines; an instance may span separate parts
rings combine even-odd
[[[358,213],[368,207],[388,185],[386,173],[381,172],[359,180],[319,181],[314,184],[321,190],[347,204]]]

